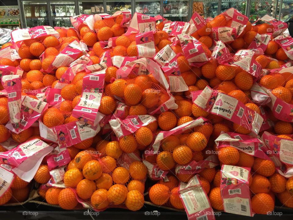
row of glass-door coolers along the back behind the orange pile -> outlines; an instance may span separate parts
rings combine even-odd
[[[71,27],[70,16],[114,14],[118,10],[149,16],[161,15],[177,21],[189,21],[195,11],[204,18],[215,17],[231,7],[248,16],[251,22],[265,14],[282,21],[293,17],[293,0],[18,0],[18,5],[22,28],[37,25]]]

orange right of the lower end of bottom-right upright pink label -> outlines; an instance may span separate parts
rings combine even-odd
[[[267,215],[274,210],[274,200],[267,193],[258,193],[251,199],[251,208],[256,214]]]

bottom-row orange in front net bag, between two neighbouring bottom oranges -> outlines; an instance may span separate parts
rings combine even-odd
[[[124,202],[128,193],[128,189],[125,185],[115,184],[108,190],[108,200],[114,205],[119,205]]]

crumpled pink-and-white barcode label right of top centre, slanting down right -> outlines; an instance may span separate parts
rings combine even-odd
[[[209,60],[204,53],[201,42],[194,37],[190,35],[177,35],[177,39],[180,41],[184,56],[189,63],[197,63],[194,65],[200,67]]]

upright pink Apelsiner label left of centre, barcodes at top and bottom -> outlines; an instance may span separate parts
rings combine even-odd
[[[105,71],[88,74],[83,78],[81,100],[74,107],[72,116],[96,126],[104,89]]]

